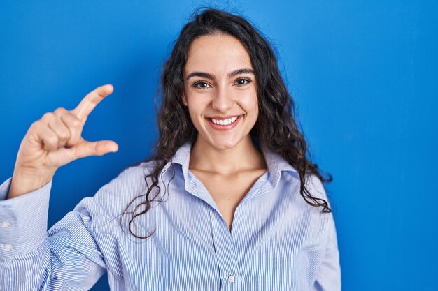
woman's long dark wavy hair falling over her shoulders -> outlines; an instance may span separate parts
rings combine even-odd
[[[306,187],[309,174],[315,174],[323,182],[331,181],[332,177],[323,177],[318,166],[311,162],[306,141],[295,118],[295,104],[281,78],[271,46],[245,18],[223,10],[204,8],[194,13],[192,21],[185,24],[162,70],[162,100],[157,112],[159,139],[155,153],[147,160],[155,161],[154,168],[145,177],[148,186],[146,193],[132,200],[123,213],[132,214],[128,223],[129,232],[139,239],[153,234],[146,237],[136,235],[132,232],[132,224],[135,218],[148,212],[151,202],[162,191],[158,180],[164,165],[171,163],[179,147],[185,142],[195,142],[197,137],[188,109],[181,101],[183,70],[190,44],[196,38],[215,33],[225,33],[239,39],[252,61],[257,81],[259,115],[250,131],[251,137],[260,146],[279,154],[297,170],[301,184],[299,193],[309,205],[322,207],[325,213],[331,212],[327,201],[313,197]],[[140,200],[139,204],[128,211],[137,200]]]

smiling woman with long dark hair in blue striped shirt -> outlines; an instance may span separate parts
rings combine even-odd
[[[117,151],[80,136],[113,87],[31,125],[1,186],[1,290],[340,290],[316,165],[269,44],[242,17],[202,11],[162,73],[160,137],[46,232],[52,177]],[[127,232],[126,230],[129,230]]]

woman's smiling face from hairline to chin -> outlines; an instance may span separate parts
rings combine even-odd
[[[257,84],[248,52],[222,33],[192,42],[182,101],[198,131],[197,143],[231,149],[250,140],[258,116]]]

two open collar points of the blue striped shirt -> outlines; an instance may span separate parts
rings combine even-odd
[[[188,181],[188,167],[190,162],[190,151],[192,149],[192,143],[186,142],[181,146],[175,153],[174,157],[171,159],[171,163],[177,163],[181,165],[183,170],[183,175],[185,177],[185,181]],[[262,147],[262,153],[264,156],[264,160],[266,161],[268,172],[269,172],[269,180],[274,186],[278,184],[281,178],[281,172],[290,172],[291,174],[298,175],[297,170],[295,170],[292,165],[290,165],[284,158],[280,155],[264,149]],[[169,165],[170,166],[170,165]]]

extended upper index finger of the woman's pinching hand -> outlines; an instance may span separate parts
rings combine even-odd
[[[100,103],[101,100],[104,100],[106,96],[113,93],[114,88],[111,84],[106,84],[100,87],[97,87],[93,91],[91,91],[89,94],[87,94],[79,103],[78,106],[76,106],[75,109],[71,110],[71,113],[75,114],[76,117],[80,121],[82,121],[83,124],[85,124],[85,121],[87,121],[88,115],[94,110],[94,107],[97,106],[97,104]]]

